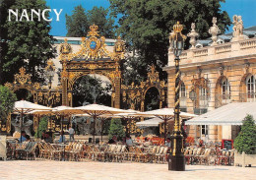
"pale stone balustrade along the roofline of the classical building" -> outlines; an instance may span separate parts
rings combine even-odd
[[[248,59],[256,57],[256,37],[240,41],[226,42],[214,46],[206,46],[195,49],[187,49],[180,55],[181,68],[201,66],[227,62],[236,59]],[[165,70],[174,68],[174,54],[171,49],[168,52],[168,67]]]

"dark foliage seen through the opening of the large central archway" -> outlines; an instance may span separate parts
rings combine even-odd
[[[84,76],[78,80],[73,89],[74,106],[94,103],[93,93],[96,93],[96,103],[111,106],[111,85],[106,83],[106,86],[102,87],[103,83],[101,79],[91,76]]]

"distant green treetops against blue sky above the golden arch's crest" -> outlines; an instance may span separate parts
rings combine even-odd
[[[71,16],[66,14],[67,36],[87,36],[90,26],[94,24],[98,26],[100,35],[114,36],[114,20],[109,17],[108,10],[103,7],[95,6],[86,12],[82,5],[79,5],[75,7]]]

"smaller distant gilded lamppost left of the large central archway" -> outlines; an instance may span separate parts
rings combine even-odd
[[[52,62],[52,60],[48,60],[47,61],[47,66],[45,67],[45,72],[46,72],[46,76],[48,79],[48,88],[49,88],[49,92],[48,92],[48,107],[52,107],[53,104],[53,95],[51,94],[51,83],[52,83],[52,79],[54,77],[55,74],[55,67],[54,64]],[[49,127],[49,133],[52,136],[52,118],[50,117],[50,127]]]

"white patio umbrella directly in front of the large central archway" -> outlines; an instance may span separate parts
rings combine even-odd
[[[95,136],[96,136],[95,134],[96,134],[96,118],[97,117],[103,114],[117,114],[117,113],[126,112],[126,110],[123,110],[123,109],[118,109],[118,108],[109,107],[105,105],[99,105],[96,103],[75,107],[75,109],[79,111],[81,114],[86,113],[94,118],[94,135],[93,135],[94,142],[95,142]]]

